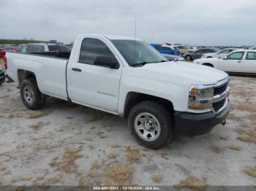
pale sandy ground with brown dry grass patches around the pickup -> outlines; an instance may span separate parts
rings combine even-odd
[[[165,148],[140,147],[127,121],[48,98],[26,109],[0,86],[0,185],[256,185],[256,77],[231,77],[224,127]]]

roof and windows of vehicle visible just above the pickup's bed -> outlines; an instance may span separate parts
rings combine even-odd
[[[66,47],[64,44],[56,43],[33,43],[26,44],[20,48],[20,52],[71,52],[71,50]]]

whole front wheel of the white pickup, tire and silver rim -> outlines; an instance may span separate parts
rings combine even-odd
[[[173,138],[173,115],[156,101],[135,105],[128,117],[129,129],[144,147],[159,149]]]

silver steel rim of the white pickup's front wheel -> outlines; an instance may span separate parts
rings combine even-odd
[[[154,114],[143,112],[135,117],[135,131],[144,141],[155,141],[161,133],[161,126]]]

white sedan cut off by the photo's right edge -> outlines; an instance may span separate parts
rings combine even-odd
[[[235,50],[224,58],[201,58],[194,63],[231,73],[256,74],[256,50]]]

